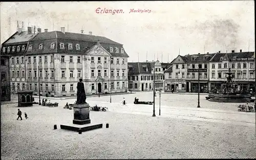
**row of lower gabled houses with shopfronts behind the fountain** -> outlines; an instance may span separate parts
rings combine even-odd
[[[155,87],[165,92],[209,93],[225,88],[229,68],[233,73],[233,85],[238,90],[254,90],[254,52],[179,55],[171,63],[128,63],[128,87],[134,91],[153,90],[153,66],[155,63]],[[204,69],[205,72],[190,72],[189,69]],[[199,81],[198,81],[199,79]],[[199,82],[199,83],[198,83]]]

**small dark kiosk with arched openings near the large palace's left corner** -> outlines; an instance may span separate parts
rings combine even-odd
[[[33,106],[33,91],[18,91],[18,106]]]

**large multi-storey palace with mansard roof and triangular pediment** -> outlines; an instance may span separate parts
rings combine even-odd
[[[87,94],[127,91],[129,56],[122,44],[92,32],[69,33],[65,28],[37,31],[33,34],[28,27],[3,44],[1,52],[12,56],[12,90],[33,90],[39,95],[40,89],[41,95],[56,97],[76,95],[82,78]]]

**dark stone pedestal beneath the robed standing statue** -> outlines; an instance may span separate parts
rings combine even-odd
[[[74,120],[73,124],[89,124],[90,120],[90,105],[88,103],[74,105]]]

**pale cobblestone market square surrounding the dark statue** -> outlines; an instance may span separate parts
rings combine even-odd
[[[103,128],[81,135],[59,127],[72,123],[73,110],[63,106],[75,98],[47,98],[59,102],[58,108],[37,104],[19,108],[22,121],[16,120],[17,103],[2,104],[1,158],[256,158],[255,113],[238,112],[238,104],[210,102],[201,95],[197,108],[196,94],[162,94],[159,116],[158,94],[152,117],[153,105],[133,104],[135,96],[153,100],[152,92],[115,95],[112,103],[110,96],[88,97],[90,105],[108,106],[109,112],[91,111],[92,123],[103,123]],[[123,97],[126,106],[120,105]]]

